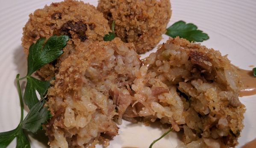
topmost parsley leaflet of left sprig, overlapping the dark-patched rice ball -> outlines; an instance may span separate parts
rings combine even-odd
[[[45,44],[45,38],[40,38],[35,44],[32,44],[29,47],[26,76],[32,75],[36,70],[62,55],[63,51],[60,49],[67,45],[68,40],[68,35],[61,35],[59,38],[57,38],[57,35],[53,35]],[[43,44],[44,47],[42,49]]]

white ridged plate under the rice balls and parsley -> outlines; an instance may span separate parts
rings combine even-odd
[[[22,28],[35,9],[43,8],[59,0],[0,0],[0,132],[17,127],[20,120],[20,102],[15,77],[17,73],[26,75],[26,56],[21,46]],[[85,0],[84,0],[85,1]],[[88,0],[97,6],[97,0]],[[194,23],[206,32],[210,39],[202,44],[208,48],[228,54],[231,63],[250,70],[256,66],[256,1],[255,0],[171,0],[172,17],[170,26],[178,20]],[[163,35],[163,43],[167,36]],[[149,53],[142,55],[147,56]],[[25,83],[21,83],[24,88]],[[244,114],[244,129],[238,139],[240,148],[256,138],[256,96],[240,98],[247,110]],[[25,114],[28,108],[25,107]],[[168,128],[154,123],[148,127],[143,124],[123,123],[119,136],[111,139],[109,148],[138,147],[147,148]],[[32,148],[48,148],[44,133],[38,135],[27,132]],[[153,146],[154,148],[175,148],[181,143],[181,134],[172,132]],[[8,148],[15,148],[14,140]],[[102,148],[103,145],[97,145]]]

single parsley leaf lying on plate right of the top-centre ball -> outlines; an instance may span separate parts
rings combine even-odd
[[[179,20],[167,28],[167,32],[165,34],[172,38],[179,36],[180,38],[185,38],[190,42],[202,42],[209,39],[209,36],[206,33],[203,33],[201,30],[197,30],[197,26],[192,23],[186,24],[182,20]]]

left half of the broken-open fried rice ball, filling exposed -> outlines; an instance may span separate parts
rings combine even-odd
[[[88,44],[61,63],[46,102],[53,114],[46,125],[50,148],[93,148],[99,139],[109,145],[101,133],[118,135],[113,118],[131,103],[139,57],[132,44],[115,38]]]

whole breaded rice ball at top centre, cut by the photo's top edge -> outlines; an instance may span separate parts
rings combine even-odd
[[[135,45],[138,53],[153,49],[166,32],[171,18],[170,0],[99,0],[97,10],[115,20],[115,34]]]

